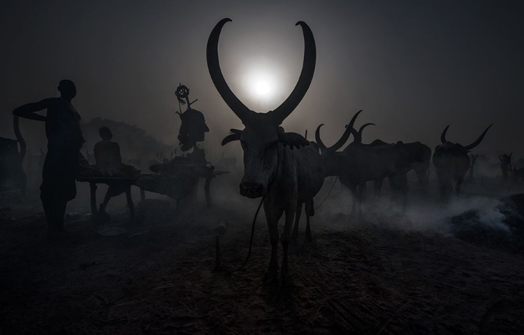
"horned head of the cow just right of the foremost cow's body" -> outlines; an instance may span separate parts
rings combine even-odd
[[[356,117],[358,117],[358,114],[361,114],[361,112],[362,110],[356,112],[353,119],[351,119],[349,124],[346,126],[346,131],[344,131],[342,137],[340,137],[340,139],[335,144],[333,144],[332,147],[326,147],[326,144],[323,144],[320,138],[320,128],[321,126],[323,126],[323,124],[316,128],[315,140],[316,144],[318,144],[320,148],[324,174],[326,177],[338,175],[341,165],[340,160],[342,159],[342,154],[337,153],[337,150],[340,149],[344,145],[344,143],[347,142],[347,140],[349,139],[349,135],[351,135],[351,133],[355,131],[353,125],[355,124]]]

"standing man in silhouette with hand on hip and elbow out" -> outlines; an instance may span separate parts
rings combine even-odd
[[[59,98],[47,98],[13,110],[13,114],[18,117],[45,121],[48,154],[43,165],[40,198],[51,234],[64,232],[66,204],[76,197],[75,179],[80,148],[85,142],[80,130],[80,114],[71,104],[76,96],[75,83],[71,80],[61,80],[58,91]],[[36,114],[46,109],[45,117]]]

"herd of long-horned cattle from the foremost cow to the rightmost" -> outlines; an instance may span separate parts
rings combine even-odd
[[[314,214],[313,198],[321,189],[324,178],[337,176],[340,182],[351,190],[352,213],[361,211],[365,183],[373,181],[374,190],[378,194],[385,178],[391,185],[393,197],[402,194],[402,207],[405,207],[408,191],[407,172],[416,172],[423,191],[427,191],[431,149],[420,142],[386,143],[375,140],[370,144],[363,144],[363,130],[373,124],[364,124],[356,131],[354,124],[362,111],[354,114],[340,140],[331,147],[326,147],[321,140],[320,129],[323,125],[316,128],[316,142],[310,142],[297,133],[284,131],[280,126],[282,121],[305,96],[314,74],[316,46],[312,31],[305,22],[296,24],[303,29],[305,51],[303,68],[291,95],[282,105],[267,113],[249,110],[229,89],[219,66],[219,35],[226,22],[231,20],[226,18],[218,22],[208,39],[208,68],[217,91],[245,128],[231,129],[231,134],[224,138],[222,145],[240,140],[244,154],[244,175],[240,182],[240,194],[248,198],[262,198],[271,241],[270,263],[263,281],[271,283],[277,280],[277,249],[280,240],[284,253],[280,279],[286,282],[290,241],[296,239],[303,206],[307,218],[306,238],[311,239],[310,216]],[[468,152],[481,143],[490,126],[475,142],[465,146],[446,140],[448,128],[449,126],[442,132],[442,144],[435,148],[432,158],[438,178],[439,194],[444,202],[449,201],[453,181],[456,182],[457,195],[460,194],[465,174],[472,165]],[[338,151],[351,135],[353,142],[344,150]],[[277,223],[284,213],[284,230],[279,237]]]

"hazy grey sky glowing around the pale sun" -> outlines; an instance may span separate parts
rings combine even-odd
[[[208,120],[207,142],[219,142],[241,127],[205,62],[210,31],[224,17],[233,19],[219,44],[224,76],[259,112],[277,107],[296,84],[303,36],[295,23],[310,25],[316,71],[286,130],[312,134],[323,123],[331,144],[363,109],[358,125],[377,124],[364,142],[419,140],[433,148],[451,124],[449,140],[470,144],[494,123],[479,151],[524,154],[522,1],[3,0],[0,136],[14,138],[14,107],[57,96],[57,83],[68,78],[85,121],[126,121],[173,144],[182,82]],[[250,93],[257,75],[273,81],[274,96]],[[41,137],[43,124],[24,120],[22,132]]]

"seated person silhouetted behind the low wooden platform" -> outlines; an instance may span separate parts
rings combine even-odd
[[[107,177],[128,177],[130,165],[122,164],[120,156],[120,147],[117,142],[112,142],[112,133],[108,127],[99,129],[102,140],[94,145],[94,159],[96,168],[101,170]],[[138,171],[133,168],[133,170]],[[133,172],[135,172],[133,171]],[[100,204],[99,213],[105,213],[105,207],[112,197],[126,193],[127,205],[131,211],[131,220],[133,219],[133,200],[131,199],[131,182],[115,180],[108,183],[108,191],[105,193],[103,203]]]

